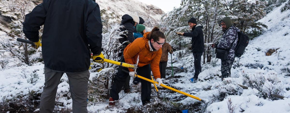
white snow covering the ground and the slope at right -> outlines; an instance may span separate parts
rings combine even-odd
[[[283,5],[282,5],[283,6]],[[228,103],[231,100],[233,112],[245,112],[245,113],[289,113],[290,112],[290,10],[280,12],[280,8],[274,9],[266,17],[259,20],[268,26],[261,36],[254,38],[249,42],[246,52],[242,55],[239,65],[238,58],[235,59],[234,68],[231,69],[232,77],[226,78],[221,81],[220,72],[220,60],[213,58],[212,63],[203,64],[202,72],[200,73],[197,83],[191,83],[188,79],[193,77],[193,56],[191,54],[184,56],[183,58],[177,58],[175,51],[172,58],[175,63],[173,67],[177,67],[179,71],[174,73],[174,78],[171,76],[171,56],[168,58],[168,70],[170,74],[162,79],[165,85],[171,86],[177,90],[186,92],[201,99],[208,99],[209,105],[206,112],[210,113],[227,113],[229,112]],[[0,31],[0,34],[4,33]],[[266,56],[266,52],[269,49],[274,49],[274,52],[270,56]],[[13,59],[12,59],[13,60]],[[216,62],[215,62],[216,61]],[[11,99],[18,94],[26,95],[29,92],[38,91],[42,92],[41,87],[44,84],[44,64],[36,63],[32,66],[21,65],[17,66],[16,62],[10,62],[7,65],[6,70],[0,71],[0,100],[4,98]],[[256,66],[256,67],[254,67]],[[183,68],[183,69],[181,69]],[[176,68],[175,68],[176,69]],[[167,70],[167,71],[168,71]],[[36,74],[34,76],[32,73]],[[91,73],[90,79],[94,76]],[[244,81],[243,75],[250,76],[250,80],[262,77],[266,82],[260,87],[264,90],[275,89],[282,86],[280,89],[281,96],[287,97],[284,99],[263,99],[259,98],[259,91],[255,88],[248,86],[248,89],[242,89],[237,84],[243,85],[249,81]],[[35,77],[36,79],[31,79]],[[31,83],[31,80],[35,82]],[[62,77],[63,81],[68,81],[66,76]],[[274,80],[272,83],[268,80]],[[132,78],[131,78],[132,81]],[[149,108],[150,105],[142,106],[140,85],[131,84],[131,93],[126,94],[124,91],[119,93],[122,99],[117,102],[117,106],[110,107],[108,103],[90,103],[88,105],[88,111],[90,112],[102,112],[102,113],[118,113],[126,112],[130,107]],[[245,84],[247,85],[247,84]],[[237,89],[236,95],[225,95],[224,99],[217,101],[214,99],[220,92],[227,92],[226,89]],[[193,105],[198,100],[191,97],[186,97],[179,93],[170,92],[165,88],[158,88],[159,92],[156,92],[152,85],[152,105],[159,101],[170,103],[170,101],[178,100],[178,103],[183,105]],[[68,92],[69,86],[66,82],[62,82],[58,86],[58,92]],[[233,92],[228,92],[233,93]],[[163,100],[157,99],[163,97]],[[71,99],[58,100],[64,102],[67,107],[72,107]],[[202,103],[200,106],[202,107]],[[156,106],[155,106],[156,107]],[[158,106],[157,106],[158,107]],[[192,106],[184,107],[182,110],[189,109]],[[201,109],[201,108],[200,108]],[[193,112],[193,111],[189,111]]]

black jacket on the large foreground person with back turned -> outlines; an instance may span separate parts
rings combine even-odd
[[[42,56],[46,68],[60,72],[89,69],[91,52],[100,54],[102,21],[99,5],[92,0],[44,0],[26,14],[25,36],[39,41],[41,25]]]

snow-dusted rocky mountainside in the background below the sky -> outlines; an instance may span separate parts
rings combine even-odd
[[[143,25],[146,27],[146,31],[151,30],[154,26],[158,26],[160,19],[164,11],[157,6],[151,4],[145,4],[137,0],[98,0],[96,1],[100,10],[106,10],[106,13],[115,13],[116,19],[113,20],[116,23],[121,22],[121,18],[124,14],[131,14],[137,12],[139,17],[142,17],[145,21]]]

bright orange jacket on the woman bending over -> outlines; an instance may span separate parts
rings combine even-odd
[[[152,51],[151,45],[148,41],[147,35],[150,32],[146,32],[144,37],[137,38],[135,41],[127,45],[124,49],[124,59],[128,64],[136,64],[137,57],[139,55],[139,63],[137,67],[143,67],[144,65],[150,64],[153,76],[155,79],[160,78],[159,61],[162,54],[162,49]],[[129,68],[129,71],[134,71]]]

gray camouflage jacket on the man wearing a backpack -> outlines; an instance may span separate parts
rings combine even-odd
[[[235,47],[237,46],[238,42],[238,32],[240,32],[238,28],[231,26],[223,33],[222,38],[220,39],[217,46],[217,48],[229,50],[231,43],[235,41],[228,55],[228,59],[231,60],[233,60],[235,57]]]

